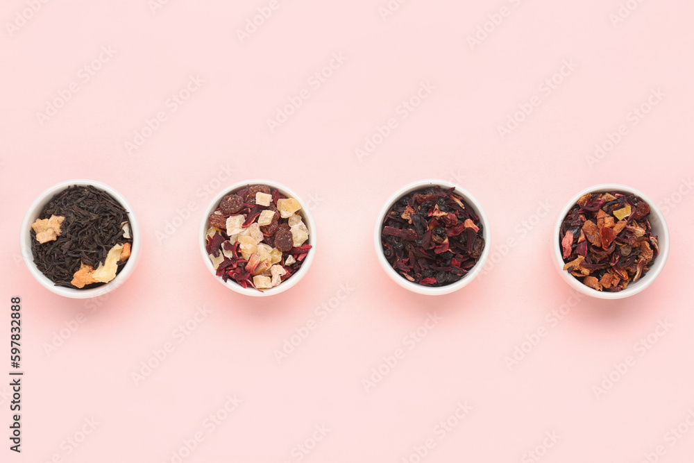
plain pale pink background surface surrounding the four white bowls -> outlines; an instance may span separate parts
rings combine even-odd
[[[387,0],[33,3],[36,12],[25,0],[0,7],[1,331],[7,339],[10,296],[22,296],[26,371],[23,452],[3,448],[0,460],[176,462],[196,432],[203,440],[182,461],[691,460],[691,1],[410,0],[384,18]],[[611,20],[621,4],[635,9]],[[8,31],[23,11],[30,18]],[[112,56],[92,65],[102,47]],[[334,53],[344,62],[318,85],[312,75]],[[573,64],[555,75],[563,62]],[[203,83],[171,103],[189,76]],[[42,121],[71,83],[77,92]],[[433,88],[404,110],[423,83]],[[271,130],[267,120],[302,90],[308,98]],[[648,114],[635,118],[642,104]],[[158,112],[166,119],[129,152]],[[378,146],[360,159],[366,138]],[[596,144],[610,149],[600,160]],[[320,235],[305,279],[263,300],[219,285],[197,244],[212,196],[257,177],[312,203]],[[114,187],[142,226],[137,270],[101,300],[53,295],[19,258],[24,212],[71,178]],[[421,178],[459,183],[491,220],[492,263],[457,294],[409,294],[374,255],[382,203]],[[661,204],[670,259],[637,296],[576,303],[553,268],[551,229],[570,196],[605,182]],[[335,311],[323,317],[322,304]],[[568,304],[566,317],[552,315]],[[211,313],[190,321],[202,306]],[[421,328],[434,313],[440,321]],[[195,329],[181,339],[187,322]],[[278,362],[273,352],[308,325]],[[418,328],[427,335],[414,342]],[[46,353],[54,339],[62,344]],[[174,350],[135,384],[167,343]],[[509,368],[516,348],[527,353]],[[387,374],[367,391],[362,380],[379,367]],[[610,375],[613,386],[596,393]],[[0,392],[7,432],[9,388]],[[228,396],[242,403],[227,413]],[[458,403],[472,407],[462,419]],[[215,413],[226,419],[211,429]],[[86,437],[85,419],[99,423]],[[689,432],[675,437],[677,426]]]

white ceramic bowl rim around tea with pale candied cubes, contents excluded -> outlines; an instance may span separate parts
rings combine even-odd
[[[306,224],[306,227],[308,228],[309,232],[308,240],[304,244],[310,244],[311,246],[313,246],[306,255],[306,258],[303,260],[301,267],[299,267],[296,273],[291,275],[289,278],[287,278],[287,280],[283,281],[276,287],[270,289],[263,289],[262,292],[258,291],[253,287],[244,288],[231,278],[229,278],[225,283],[224,280],[221,279],[221,277],[217,276],[217,271],[214,270],[212,262],[210,261],[210,256],[208,255],[208,251],[207,249],[205,249],[206,237],[208,234],[208,229],[210,228],[210,222],[208,221],[208,217],[210,217],[210,214],[217,210],[219,201],[221,201],[221,199],[224,196],[237,192],[238,190],[242,190],[242,188],[246,187],[247,185],[268,185],[273,189],[279,190],[279,192],[287,196],[287,198],[297,199],[301,204],[301,210],[298,211],[298,214],[303,217],[303,221]],[[303,278],[303,276],[307,273],[309,267],[311,267],[313,257],[316,253],[316,225],[313,220],[313,216],[311,215],[311,211],[309,210],[309,208],[307,208],[306,203],[298,196],[298,194],[289,190],[289,188],[285,187],[285,185],[273,182],[271,180],[245,180],[243,182],[230,185],[230,187],[225,188],[221,193],[217,194],[217,196],[214,196],[214,198],[212,199],[208,207],[205,209],[205,212],[203,214],[203,218],[200,224],[200,233],[198,235],[198,245],[200,246],[200,252],[203,256],[203,262],[205,262],[205,267],[207,267],[210,273],[212,273],[214,279],[219,281],[219,283],[239,294],[246,294],[246,296],[273,296],[274,294],[280,294],[281,292],[285,292],[287,291],[287,289],[296,285],[296,283],[298,283],[301,280],[301,278]]]

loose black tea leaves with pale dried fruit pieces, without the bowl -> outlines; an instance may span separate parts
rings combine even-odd
[[[108,283],[133,245],[128,212],[92,185],[74,185],[53,196],[31,228],[34,263],[56,286]]]

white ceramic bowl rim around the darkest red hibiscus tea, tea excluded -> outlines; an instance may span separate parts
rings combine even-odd
[[[475,266],[472,269],[470,269],[466,276],[456,281],[455,283],[451,283],[450,285],[430,287],[419,285],[418,283],[413,283],[412,281],[409,281],[407,280],[407,278],[404,278],[402,275],[400,275],[400,273],[398,273],[395,269],[393,269],[393,267],[383,254],[383,247],[381,244],[381,230],[386,214],[388,213],[392,205],[396,203],[396,201],[398,201],[398,199],[402,198],[410,192],[421,190],[423,188],[434,187],[436,185],[439,185],[441,188],[443,188],[443,190],[448,190],[448,188],[455,187],[454,191],[460,196],[463,196],[465,201],[473,208],[475,214],[477,214],[480,217],[480,221],[482,222],[482,237],[484,238],[484,250],[482,251],[482,255],[480,255],[480,259],[477,260]],[[410,183],[409,185],[405,185],[404,187],[400,188],[400,190],[393,193],[393,195],[388,199],[388,201],[384,203],[383,207],[378,213],[378,219],[376,219],[376,224],[373,229],[373,245],[375,246],[376,255],[378,256],[378,262],[380,262],[381,267],[383,267],[384,271],[395,283],[398,283],[398,285],[402,286],[403,288],[409,289],[409,291],[416,292],[418,294],[439,296],[442,294],[452,293],[454,291],[457,291],[458,289],[461,289],[462,287],[469,285],[472,282],[472,280],[474,280],[475,277],[480,274],[480,271],[482,271],[482,268],[484,267],[484,264],[486,262],[486,258],[489,256],[489,250],[491,249],[491,232],[489,230],[489,220],[486,218],[486,214],[484,214],[482,205],[480,205],[480,203],[477,202],[475,197],[472,194],[470,194],[467,190],[464,190],[464,188],[459,187],[454,183],[447,182],[445,180],[419,180],[418,182]]]

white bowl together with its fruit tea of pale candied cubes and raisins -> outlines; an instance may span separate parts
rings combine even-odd
[[[313,217],[279,183],[249,180],[212,199],[200,228],[205,266],[226,287],[271,296],[296,285],[316,246]]]

